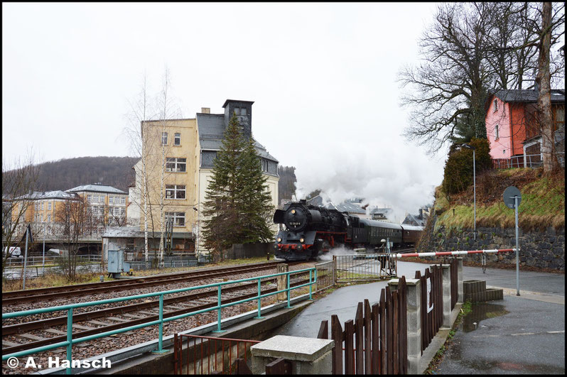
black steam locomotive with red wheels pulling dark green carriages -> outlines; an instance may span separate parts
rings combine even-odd
[[[337,209],[306,204],[306,200],[277,209],[274,223],[284,224],[275,248],[276,258],[286,261],[316,258],[341,245],[377,248],[382,246],[382,239],[389,239],[394,246],[413,246],[423,231],[422,226],[360,219]]]

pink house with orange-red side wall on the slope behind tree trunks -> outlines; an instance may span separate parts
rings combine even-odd
[[[489,92],[485,105],[486,134],[495,166],[526,167],[541,163],[541,127],[536,90],[510,89]],[[551,90],[558,157],[563,165],[565,91]],[[562,154],[563,153],[563,154]]]

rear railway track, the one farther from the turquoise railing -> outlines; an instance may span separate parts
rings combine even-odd
[[[257,263],[254,265],[215,268],[210,270],[189,271],[168,275],[148,276],[144,278],[129,278],[101,283],[87,283],[77,285],[65,285],[62,287],[39,288],[33,290],[16,290],[2,293],[2,307],[4,305],[19,304],[23,302],[44,302],[53,298],[78,297],[85,295],[97,295],[99,293],[117,292],[136,288],[148,288],[166,283],[190,282],[206,278],[219,278],[233,275],[234,273],[247,273],[274,268],[281,262]],[[289,263],[293,265],[295,263]]]

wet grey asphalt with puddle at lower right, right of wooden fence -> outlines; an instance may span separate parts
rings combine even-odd
[[[502,288],[504,300],[473,305],[433,373],[565,374],[565,275],[465,267],[465,280]]]

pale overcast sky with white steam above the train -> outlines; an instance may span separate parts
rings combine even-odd
[[[2,4],[2,154],[43,162],[131,155],[141,77],[164,67],[186,118],[254,101],[252,133],[298,189],[416,212],[445,153],[400,136],[396,74],[418,60],[436,4]],[[90,182],[85,182],[90,183]],[[62,190],[68,187],[61,187]],[[404,207],[404,208],[401,208]]]

